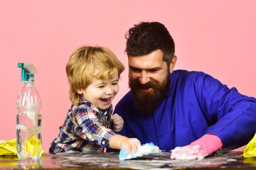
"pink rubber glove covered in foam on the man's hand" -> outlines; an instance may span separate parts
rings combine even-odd
[[[185,147],[171,150],[171,159],[203,159],[223,146],[216,135],[206,134]]]

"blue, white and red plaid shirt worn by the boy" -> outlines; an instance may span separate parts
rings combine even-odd
[[[98,110],[81,98],[78,105],[72,104],[49,152],[103,152],[104,147],[109,147],[110,137],[116,135],[110,129],[111,113],[112,106],[104,111]]]

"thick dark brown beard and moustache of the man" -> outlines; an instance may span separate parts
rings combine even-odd
[[[134,97],[135,108],[143,114],[154,113],[156,108],[159,108],[161,101],[168,95],[170,83],[171,77],[169,77],[169,73],[166,74],[162,84],[155,80],[140,84],[139,78],[134,80],[129,78],[129,87]],[[150,91],[142,91],[141,88],[152,89]]]

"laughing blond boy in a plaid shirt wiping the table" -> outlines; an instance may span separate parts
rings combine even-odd
[[[105,147],[136,152],[141,144],[136,138],[118,135],[123,120],[114,114],[112,100],[119,91],[119,77],[124,66],[106,47],[80,47],[66,66],[72,106],[60,126],[60,134],[50,145],[50,153],[103,152]]]

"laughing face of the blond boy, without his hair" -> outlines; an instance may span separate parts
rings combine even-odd
[[[87,86],[85,90],[78,90],[78,94],[82,94],[83,98],[96,108],[105,110],[110,107],[114,96],[119,91],[118,81],[118,74],[115,74],[113,79],[108,79],[107,81],[93,79],[92,84]]]

